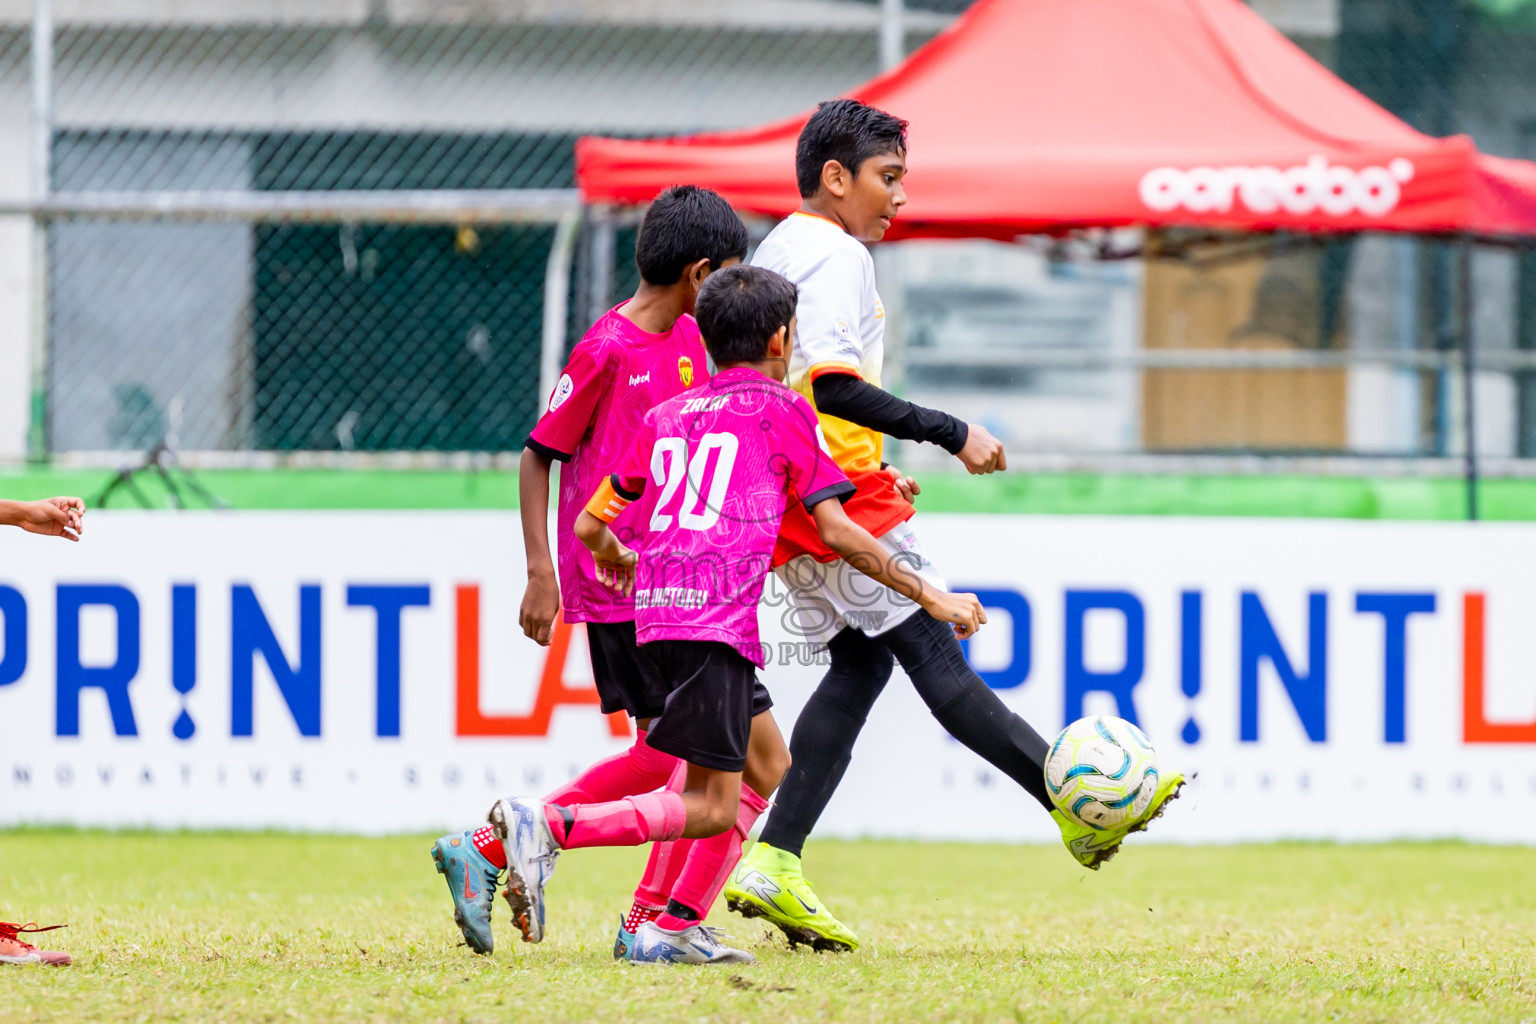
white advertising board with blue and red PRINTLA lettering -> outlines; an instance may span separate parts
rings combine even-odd
[[[1200,778],[1149,840],[1536,841],[1536,527],[919,516],[1046,735]],[[522,637],[513,513],[94,513],[0,537],[0,824],[467,826],[622,749],[581,628]],[[760,611],[788,732],[819,652]],[[820,834],[1051,840],[897,672]]]

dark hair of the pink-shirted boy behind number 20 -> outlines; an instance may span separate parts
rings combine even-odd
[[[684,267],[746,258],[746,226],[731,204],[710,189],[674,184],[651,203],[634,241],[634,263],[647,284],[677,284]]]

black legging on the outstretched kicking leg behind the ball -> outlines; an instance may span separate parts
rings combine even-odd
[[[949,735],[1018,783],[1046,811],[1055,808],[1044,780],[1051,745],[971,669],[954,629],[919,611],[882,639]]]

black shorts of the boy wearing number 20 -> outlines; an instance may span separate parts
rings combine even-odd
[[[742,771],[753,718],[773,708],[757,666],[713,640],[653,640],[639,649],[671,685],[647,743],[690,765]]]

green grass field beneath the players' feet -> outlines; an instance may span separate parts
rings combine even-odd
[[[550,938],[461,947],[430,838],[0,832],[0,918],[68,921],[65,969],[0,969],[8,1021],[1536,1019],[1536,855],[1461,844],[819,843],[866,946],[756,967],[610,960],[639,851],[581,851]]]

